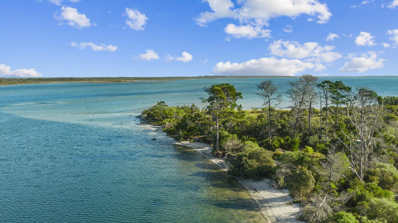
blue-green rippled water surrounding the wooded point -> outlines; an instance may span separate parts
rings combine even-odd
[[[327,79],[398,92],[395,77]],[[203,106],[214,83],[259,107],[262,80],[0,86],[0,222],[264,222],[234,179],[192,149],[149,140],[134,117],[160,100]]]

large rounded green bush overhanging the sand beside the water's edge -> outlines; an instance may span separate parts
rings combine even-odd
[[[264,150],[253,142],[244,142],[244,151],[236,154],[228,173],[236,177],[260,179],[271,173],[275,161],[272,152]]]

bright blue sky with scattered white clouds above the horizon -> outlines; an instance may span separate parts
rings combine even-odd
[[[0,77],[398,75],[398,0],[0,0]]]

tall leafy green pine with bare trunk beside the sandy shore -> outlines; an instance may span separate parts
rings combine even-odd
[[[242,93],[237,92],[235,87],[230,84],[217,84],[211,87],[204,87],[203,90],[209,94],[209,98],[201,98],[202,102],[209,105],[206,111],[211,115],[213,129],[216,133],[216,150],[219,151],[219,131],[224,121],[231,117],[234,109],[237,108],[236,100],[242,99]]]

